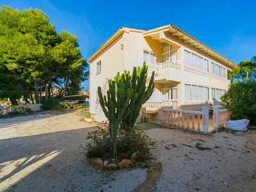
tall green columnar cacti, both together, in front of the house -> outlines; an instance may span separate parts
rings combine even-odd
[[[145,62],[143,67],[134,67],[132,76],[130,72],[124,72],[120,76],[119,72],[114,78],[115,81],[108,81],[109,90],[106,95],[102,95],[101,88],[98,87],[100,106],[109,120],[109,136],[113,143],[113,157],[117,157],[116,136],[119,127],[125,131],[131,131],[140,115],[141,106],[150,98],[154,90],[154,72],[147,83],[147,70]],[[120,126],[120,123],[122,125]]]

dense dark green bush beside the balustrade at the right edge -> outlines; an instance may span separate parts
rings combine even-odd
[[[256,125],[256,81],[235,82],[221,97],[221,105],[231,109],[232,120],[246,118]]]

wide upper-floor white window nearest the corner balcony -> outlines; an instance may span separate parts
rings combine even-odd
[[[202,70],[204,72],[209,72],[208,60],[205,60],[204,58],[187,50],[184,50],[184,65]]]

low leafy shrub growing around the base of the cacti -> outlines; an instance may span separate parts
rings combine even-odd
[[[89,159],[93,157],[113,158],[113,143],[111,142],[109,131],[108,124],[101,124],[97,127],[97,130],[88,133],[86,139],[92,140],[92,142],[84,147],[86,157]],[[116,159],[131,159],[134,152],[139,152],[138,161],[145,161],[150,158],[150,145],[154,144],[138,127],[133,127],[130,132],[119,129],[116,143],[118,150]]]

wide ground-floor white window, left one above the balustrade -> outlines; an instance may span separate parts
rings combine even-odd
[[[185,84],[185,100],[209,100],[209,88]]]

